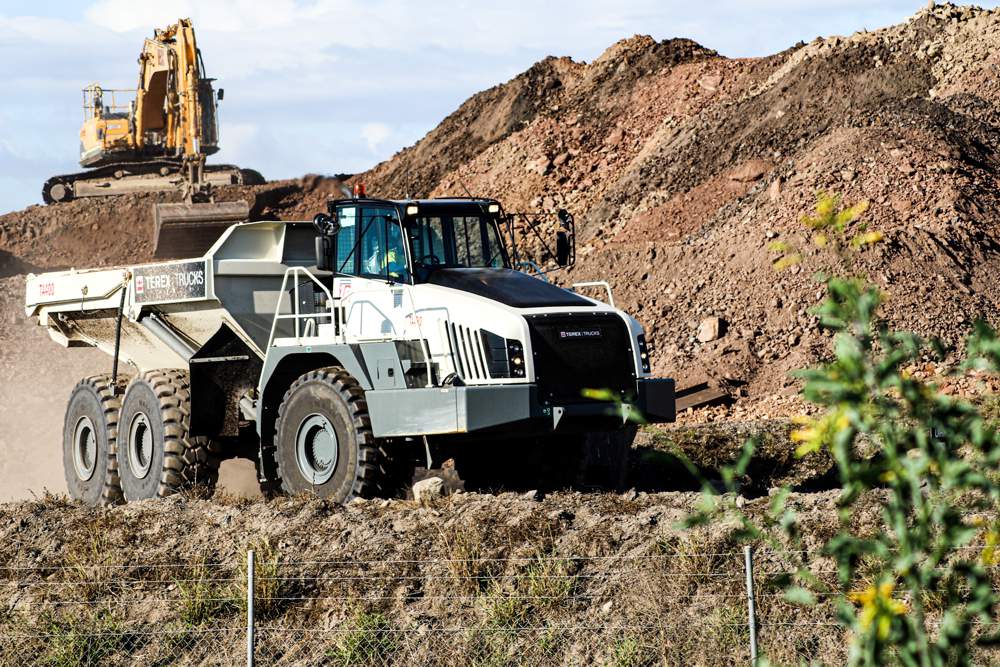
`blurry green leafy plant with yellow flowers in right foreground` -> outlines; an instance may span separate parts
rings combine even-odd
[[[873,242],[863,233],[847,243],[847,230],[862,209],[838,211],[839,200],[821,199],[806,219],[838,252]],[[814,236],[815,240],[815,236]],[[821,327],[834,334],[833,358],[799,373],[803,395],[823,411],[800,420],[792,437],[796,454],[826,450],[836,462],[841,494],[840,529],[823,547],[837,566],[835,582],[823,582],[799,562],[776,582],[786,600],[811,606],[832,598],[837,618],[850,630],[850,663],[937,666],[968,664],[998,599],[987,567],[997,562],[1000,523],[1000,436],[968,401],[942,394],[904,369],[945,350],[934,340],[894,332],[879,318],[883,295],[856,278],[824,278],[827,298],[816,310]],[[1000,368],[1000,340],[978,324],[967,345],[966,368]],[[859,441],[875,446],[860,456]],[[723,474],[728,489],[754,453]],[[804,556],[789,491],[772,498],[762,519],[750,520],[728,499],[706,487],[706,499],[689,519],[737,516],[744,538],[769,543],[793,561]],[[852,530],[852,519],[875,496],[880,530]],[[978,543],[985,546],[974,546]],[[933,618],[929,615],[933,614]]]

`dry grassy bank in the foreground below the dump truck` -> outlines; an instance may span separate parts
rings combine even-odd
[[[680,530],[677,510],[694,503],[691,497],[681,505],[680,497],[567,494],[541,502],[472,498],[329,511],[316,501],[286,499],[246,508],[267,517],[270,530],[251,533],[234,520],[228,534],[221,526],[230,524],[219,523],[213,506],[200,501],[111,511],[32,508],[39,514],[4,524],[19,540],[6,543],[14,554],[8,562],[42,567],[21,583],[17,575],[3,575],[0,609],[9,611],[0,616],[0,664],[20,660],[24,646],[6,639],[17,633],[49,635],[32,655],[49,656],[52,664],[65,664],[60,656],[74,651],[231,664],[213,653],[218,641],[200,633],[239,632],[247,547],[256,553],[260,625],[325,629],[262,634],[262,663],[732,664],[747,651],[742,545],[735,525]],[[836,526],[834,497],[796,496],[809,539],[825,539]],[[871,528],[879,502],[871,499],[872,518],[861,528]],[[747,511],[764,504],[751,501]],[[222,507],[219,514],[232,516]],[[657,519],[651,510],[666,515]],[[159,535],[157,526],[173,530],[166,537],[179,545],[173,562],[186,567],[140,564],[170,562],[163,550],[142,557]],[[25,555],[30,531],[58,535],[60,543],[49,544],[44,555]],[[311,550],[289,546],[307,543],[303,535],[327,542]],[[799,563],[763,550],[756,558],[760,640],[769,659],[843,662],[844,631],[830,625],[832,604],[824,599],[802,608],[778,594],[779,575]],[[805,562],[817,571],[832,567],[817,554]],[[121,577],[98,565],[113,566],[108,569]],[[224,578],[235,581],[214,581]],[[141,582],[123,586],[126,579]],[[164,597],[175,600],[154,602]],[[217,598],[228,598],[228,606]],[[71,600],[93,604],[64,604]],[[928,607],[933,619],[932,600]],[[137,637],[137,627],[163,633]],[[89,637],[94,633],[86,630],[94,628],[107,632]]]

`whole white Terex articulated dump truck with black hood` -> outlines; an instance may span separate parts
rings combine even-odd
[[[336,502],[444,457],[485,487],[511,467],[620,487],[674,383],[635,319],[514,270],[505,220],[488,199],[349,199],[234,224],[200,257],[29,276],[28,315],[112,357],[66,408],[71,495],[207,492],[233,457],[266,492]]]

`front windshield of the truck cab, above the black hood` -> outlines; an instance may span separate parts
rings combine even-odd
[[[406,225],[415,273],[436,267],[504,268],[507,258],[491,216],[461,212],[421,215]]]

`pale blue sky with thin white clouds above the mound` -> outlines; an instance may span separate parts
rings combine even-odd
[[[135,88],[153,28],[194,21],[224,88],[209,162],[268,179],[355,173],[547,55],[634,34],[760,56],[898,23],[901,0],[0,0],[0,212],[79,171],[81,89]],[[1000,4],[1000,0],[982,3]]]

